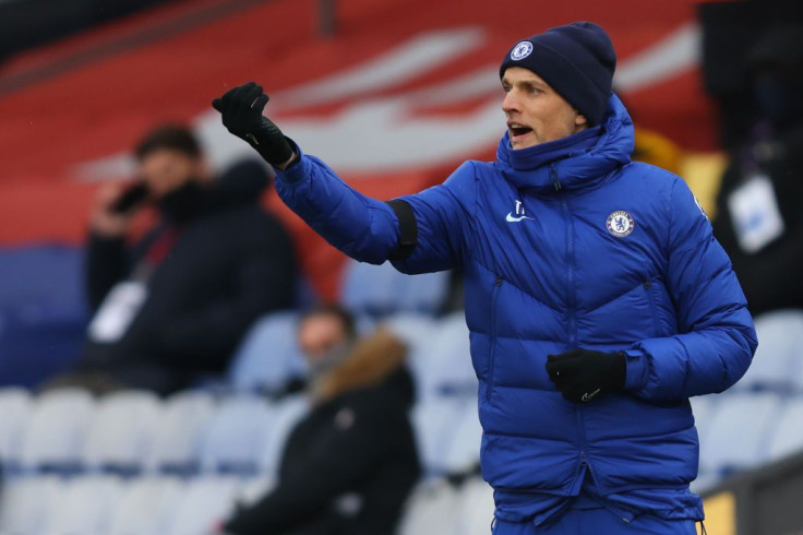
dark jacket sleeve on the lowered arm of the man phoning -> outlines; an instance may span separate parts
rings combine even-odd
[[[261,223],[263,223],[261,221]],[[160,347],[175,362],[205,362],[218,368],[260,316],[293,306],[296,269],[289,237],[275,225],[241,236],[241,257],[229,293],[164,325]]]

